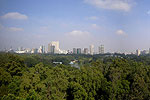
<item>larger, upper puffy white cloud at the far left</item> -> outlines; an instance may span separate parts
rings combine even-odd
[[[18,12],[10,12],[7,13],[3,16],[1,16],[4,19],[18,19],[18,20],[26,20],[28,19],[28,16],[24,15],[24,14],[20,14]]]

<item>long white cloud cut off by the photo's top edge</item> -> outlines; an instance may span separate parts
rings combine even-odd
[[[131,0],[84,0],[97,8],[129,11],[131,9]]]

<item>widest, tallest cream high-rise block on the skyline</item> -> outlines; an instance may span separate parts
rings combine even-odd
[[[48,53],[59,53],[59,41],[52,41],[48,44]]]

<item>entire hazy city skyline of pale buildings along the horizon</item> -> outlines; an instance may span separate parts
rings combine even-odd
[[[51,41],[48,44],[47,49],[45,48],[44,45],[41,45],[38,48],[24,48],[24,47],[18,47],[16,50],[13,48],[10,49],[4,49],[0,52],[10,52],[10,53],[31,53],[31,54],[85,54],[85,55],[95,55],[95,54],[108,54],[108,55],[113,55],[113,54],[134,54],[137,56],[140,55],[147,55],[150,54],[150,48],[149,49],[137,49],[134,52],[106,52],[104,45],[100,44],[98,47],[95,47],[94,45],[89,45],[89,48],[72,48],[72,50],[62,50],[59,47],[59,41]],[[97,50],[96,50],[97,49]]]

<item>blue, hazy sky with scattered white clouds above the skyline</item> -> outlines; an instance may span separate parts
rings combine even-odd
[[[104,45],[105,52],[150,48],[150,0],[0,0],[0,50]]]

